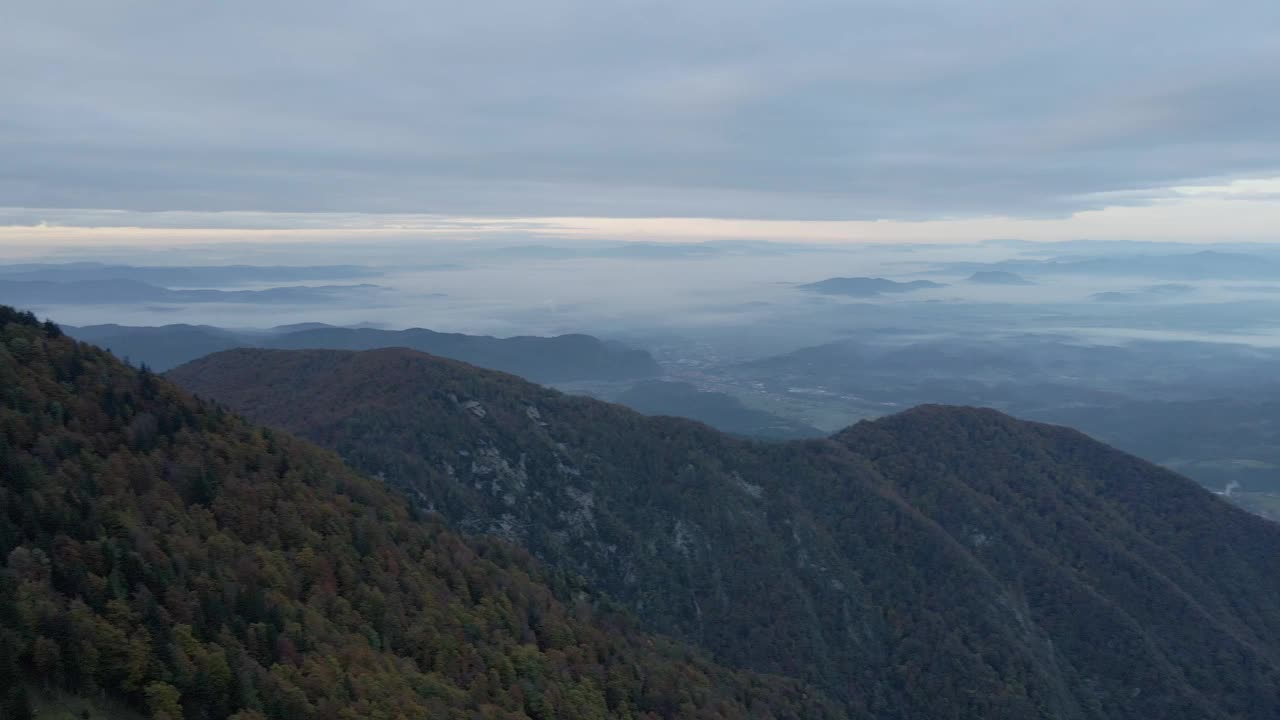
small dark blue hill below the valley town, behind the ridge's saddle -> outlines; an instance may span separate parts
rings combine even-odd
[[[614,401],[645,415],[689,418],[742,437],[800,439],[823,434],[818,428],[748,407],[731,395],[700,391],[689,383],[645,380],[631,386]]]

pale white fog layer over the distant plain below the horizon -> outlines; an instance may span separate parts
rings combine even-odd
[[[36,310],[69,324],[180,322],[250,328],[324,322],[498,336],[585,332],[613,338],[671,333],[696,337],[749,328],[753,337],[748,345],[759,346],[759,352],[794,350],[877,325],[895,325],[908,334],[1036,331],[1107,342],[1126,337],[1258,346],[1276,342],[1271,318],[1280,304],[1280,251],[1266,245],[1212,249],[1212,258],[1239,260],[1256,270],[1238,277],[1239,268],[1220,268],[1216,273],[1204,269],[1206,249],[1198,246],[1162,246],[1153,251],[1142,243],[1098,243],[1094,249],[1069,243],[1060,255],[1050,255],[1052,245],[998,242],[852,247],[507,242],[399,242],[366,246],[360,254],[340,243],[317,243],[305,252],[298,252],[297,246],[257,246],[238,255],[241,263],[247,258],[255,265],[358,261],[372,270],[371,277],[323,283],[260,279],[236,286],[269,290],[372,283],[380,288],[334,302],[256,306],[93,301],[45,304]],[[156,258],[81,254],[58,260],[157,264]],[[1107,258],[1115,258],[1123,273],[1061,269],[1068,263]],[[198,249],[164,255],[166,265],[225,261],[225,249],[216,255]],[[1146,274],[1144,265],[1151,268]],[[1171,265],[1185,272],[1171,273]],[[987,268],[1011,268],[1027,284],[969,281],[974,272]],[[1197,269],[1207,277],[1184,278]],[[5,277],[20,279],[13,273]],[[799,288],[833,277],[928,279],[945,287],[854,297]],[[10,295],[5,301],[23,300],[20,291]]]

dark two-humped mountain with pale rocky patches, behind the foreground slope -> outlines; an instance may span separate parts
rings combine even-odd
[[[760,443],[407,350],[170,375],[855,715],[1280,707],[1280,525],[1074,430],[931,406]]]

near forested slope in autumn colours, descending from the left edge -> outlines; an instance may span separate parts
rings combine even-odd
[[[6,720],[55,688],[86,717],[847,716],[6,307],[0,388]]]

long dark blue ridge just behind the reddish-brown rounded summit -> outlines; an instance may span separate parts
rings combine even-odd
[[[412,347],[540,382],[622,380],[662,374],[648,352],[585,334],[495,338],[421,328],[384,331],[323,323],[284,325],[266,332],[209,325],[68,325],[63,329],[77,340],[92,342],[157,372],[220,350],[266,346],[321,350]]]

